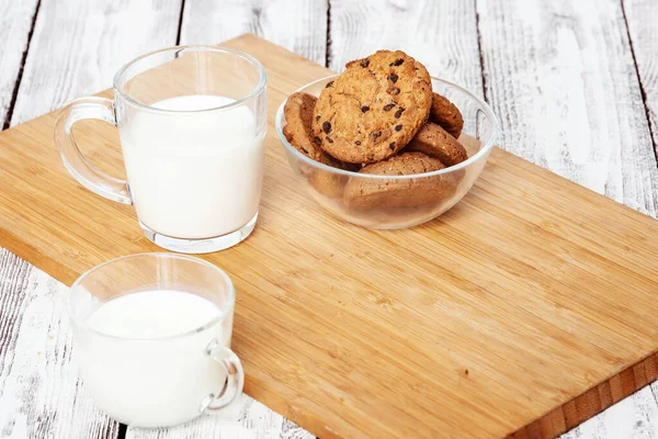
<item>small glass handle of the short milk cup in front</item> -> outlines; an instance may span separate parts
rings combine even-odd
[[[245,370],[238,356],[232,350],[222,346],[217,339],[213,339],[206,347],[206,354],[217,361],[226,370],[226,386],[224,392],[215,395],[211,393],[202,403],[201,413],[219,410],[226,407],[242,394],[245,386]]]

